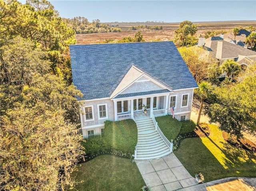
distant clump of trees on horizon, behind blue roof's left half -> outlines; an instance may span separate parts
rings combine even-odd
[[[76,34],[86,33],[105,33],[105,32],[121,32],[118,27],[113,27],[108,24],[100,23],[100,20],[93,20],[89,22],[84,17],[74,17],[72,19],[62,18],[62,20],[71,27]]]

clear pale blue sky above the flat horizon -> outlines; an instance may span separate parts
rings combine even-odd
[[[21,1],[23,4],[25,1]],[[50,0],[60,17],[100,22],[256,20],[256,0]],[[255,23],[256,24],[256,23]]]

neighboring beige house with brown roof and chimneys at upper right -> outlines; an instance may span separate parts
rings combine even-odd
[[[246,49],[236,44],[237,41],[226,41],[221,37],[210,37],[198,39],[198,46],[205,47],[207,51],[212,53],[212,57],[218,59],[219,65],[222,65],[227,59],[234,59],[242,68],[256,61],[256,52]],[[239,41],[238,41],[239,42]],[[222,74],[221,77],[225,77]]]

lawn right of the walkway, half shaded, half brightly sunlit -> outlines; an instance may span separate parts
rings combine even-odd
[[[201,172],[205,181],[256,177],[256,153],[228,144],[215,125],[210,125],[208,137],[183,140],[174,154],[192,176]]]

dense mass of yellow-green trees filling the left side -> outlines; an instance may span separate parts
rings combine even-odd
[[[0,190],[65,190],[84,154],[65,55],[75,32],[46,0],[0,4]]]

